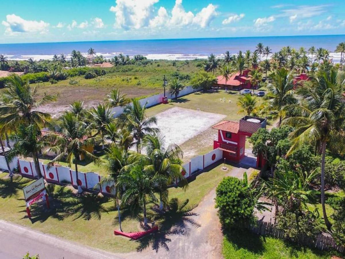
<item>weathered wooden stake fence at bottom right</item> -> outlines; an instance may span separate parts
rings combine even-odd
[[[330,235],[319,234],[316,237],[307,237],[306,235],[300,235],[296,239],[291,239],[286,237],[284,231],[278,229],[276,225],[270,222],[263,221],[258,221],[257,225],[248,226],[248,229],[255,234],[288,240],[290,242],[301,244],[309,248],[316,248],[319,250],[336,250],[340,253],[345,253],[345,247],[336,244],[334,238]]]

